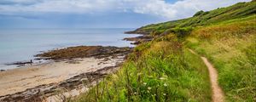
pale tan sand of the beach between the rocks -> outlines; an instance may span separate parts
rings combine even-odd
[[[39,85],[58,83],[79,74],[96,71],[122,62],[123,56],[117,58],[95,59],[94,57],[50,62],[43,65],[32,65],[0,72],[0,96],[15,94],[27,88]]]

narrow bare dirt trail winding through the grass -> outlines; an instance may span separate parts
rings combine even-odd
[[[192,54],[196,54],[193,50],[189,49]],[[198,55],[198,54],[196,54]],[[206,57],[202,57],[201,59],[207,65],[207,69],[209,71],[209,77],[211,80],[212,87],[212,102],[224,102],[224,94],[222,89],[218,86],[218,72],[213,67],[213,65],[208,61]]]

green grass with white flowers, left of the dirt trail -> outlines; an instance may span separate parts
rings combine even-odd
[[[150,42],[141,52],[73,101],[211,101],[207,67],[180,42]]]

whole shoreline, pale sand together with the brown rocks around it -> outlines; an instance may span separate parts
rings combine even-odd
[[[91,73],[97,77],[93,81],[99,80],[116,71],[131,50],[132,48],[78,46],[46,52],[44,55],[51,55],[47,59],[54,61],[0,71],[0,101],[42,101],[55,95],[60,89],[80,86],[82,80],[88,79]]]

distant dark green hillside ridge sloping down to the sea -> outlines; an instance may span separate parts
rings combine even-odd
[[[256,13],[256,2],[236,3],[227,8],[218,8],[212,11],[199,11],[193,17],[183,20],[173,20],[160,24],[143,26],[136,33],[159,35],[175,28],[209,26],[224,20],[233,20]]]

